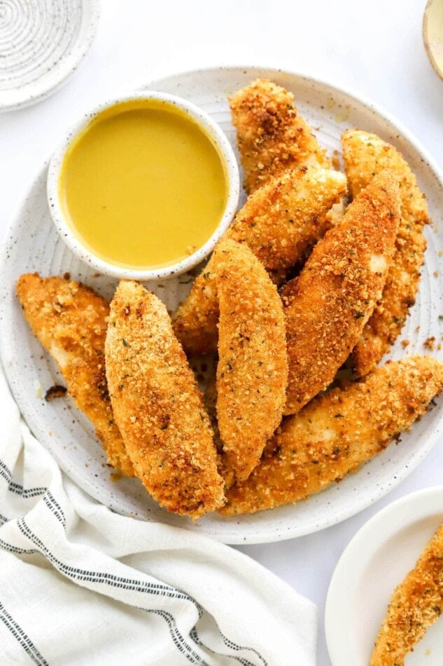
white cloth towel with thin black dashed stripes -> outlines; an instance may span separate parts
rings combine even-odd
[[[0,414],[1,665],[314,666],[314,604],[233,548],[87,496],[1,372]]]

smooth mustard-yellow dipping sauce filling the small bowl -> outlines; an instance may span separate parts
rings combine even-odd
[[[59,201],[73,233],[97,257],[157,269],[211,237],[227,201],[226,167],[184,111],[129,100],[96,116],[69,146]]]

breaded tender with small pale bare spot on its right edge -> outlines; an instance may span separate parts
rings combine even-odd
[[[289,381],[286,414],[325,389],[381,297],[400,219],[398,184],[376,176],[283,287]]]

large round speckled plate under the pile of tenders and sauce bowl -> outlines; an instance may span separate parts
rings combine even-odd
[[[227,95],[257,76],[267,76],[293,91],[298,107],[313,125],[321,143],[329,151],[339,149],[343,130],[358,126],[377,132],[393,142],[405,155],[419,184],[426,192],[433,226],[428,226],[428,251],[419,298],[398,343],[393,358],[426,353],[423,342],[430,337],[437,344],[443,334],[443,276],[437,273],[438,253],[443,251],[442,177],[428,156],[417,146],[407,130],[386,117],[367,100],[355,97],[321,81],[277,70],[258,68],[220,68],[188,72],[146,85],[195,102],[220,123],[232,144],[235,135],[230,123]],[[138,86],[140,89],[142,86]],[[20,273],[39,271],[43,276],[63,275],[91,285],[110,298],[115,287],[111,278],[97,276],[69,252],[51,222],[45,192],[46,167],[36,178],[26,201],[17,214],[6,239],[1,258],[3,280],[0,284],[0,344],[8,381],[24,418],[57,458],[59,465],[80,487],[114,510],[141,519],[156,520],[203,532],[225,543],[262,543],[279,541],[335,524],[386,494],[404,479],[428,454],[442,435],[442,410],[434,409],[391,444],[358,473],[349,475],[307,501],[244,517],[224,518],[209,515],[192,524],[190,519],[170,515],[153,502],[136,480],[113,482],[93,428],[68,399],[45,402],[36,393],[54,383],[62,383],[55,364],[43,352],[22,318],[15,298],[15,280]],[[181,276],[162,285],[149,285],[171,309],[190,288],[190,278]],[[401,340],[409,340],[403,348]]]

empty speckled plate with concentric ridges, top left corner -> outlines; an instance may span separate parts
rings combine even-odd
[[[0,2],[0,111],[35,104],[62,86],[98,22],[98,0]]]

